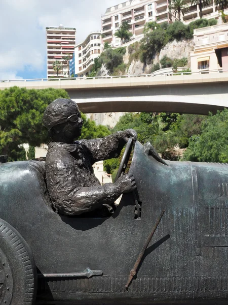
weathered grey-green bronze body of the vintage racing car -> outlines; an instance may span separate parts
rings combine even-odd
[[[43,162],[0,165],[0,217],[24,238],[39,281],[37,302],[167,303],[228,301],[228,166],[162,164],[136,142],[133,194],[109,218],[56,214]],[[165,214],[139,265],[125,284],[162,210]],[[0,245],[1,249],[1,245]],[[94,275],[80,276],[85,270]]]

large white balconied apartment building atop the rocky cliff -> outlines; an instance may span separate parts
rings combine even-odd
[[[115,32],[123,21],[129,23],[129,31],[134,40],[140,40],[143,37],[143,28],[148,21],[174,22],[178,19],[178,15],[175,16],[174,12],[170,12],[169,3],[169,0],[131,0],[106,9],[101,17],[103,42],[113,47],[121,45],[120,39],[115,37]],[[191,5],[191,2],[186,4],[188,10],[185,9],[184,15],[181,14],[181,21],[188,24],[200,18],[200,9],[199,5]],[[204,5],[202,14],[206,19],[217,19],[219,16],[214,2]]]

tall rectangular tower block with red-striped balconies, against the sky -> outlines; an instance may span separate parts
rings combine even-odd
[[[58,60],[62,64],[59,71],[59,77],[68,77],[68,66],[64,57],[74,52],[76,29],[73,27],[46,27],[47,41],[47,78],[57,77],[57,73],[53,69],[53,63]]]

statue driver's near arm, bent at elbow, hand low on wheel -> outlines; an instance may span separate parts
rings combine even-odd
[[[53,209],[60,214],[73,216],[92,211],[104,203],[113,203],[121,194],[136,187],[133,175],[124,175],[115,184],[79,187],[78,170],[62,151],[52,154],[51,159],[47,158],[48,190]],[[89,184],[89,181],[85,183]]]

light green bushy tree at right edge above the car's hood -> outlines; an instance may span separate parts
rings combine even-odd
[[[228,110],[210,115],[202,124],[201,134],[189,140],[184,160],[228,162]]]

